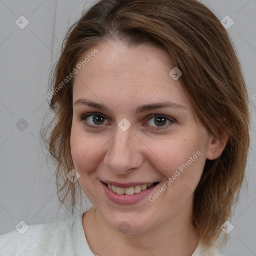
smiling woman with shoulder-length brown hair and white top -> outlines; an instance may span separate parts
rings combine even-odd
[[[73,212],[83,191],[93,207],[5,234],[2,251],[220,255],[249,112],[240,64],[208,8],[99,1],[66,35],[47,98],[59,198],[71,197]]]

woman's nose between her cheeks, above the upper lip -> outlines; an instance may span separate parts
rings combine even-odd
[[[116,175],[127,175],[143,164],[142,147],[145,145],[132,126],[126,131],[117,126],[115,135],[108,143],[104,165]]]

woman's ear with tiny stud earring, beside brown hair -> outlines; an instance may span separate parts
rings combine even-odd
[[[228,141],[228,135],[226,132],[221,132],[221,141],[216,138],[214,135],[211,135],[208,144],[208,150],[206,154],[206,158],[209,160],[214,160],[218,158],[225,149],[226,143]]]

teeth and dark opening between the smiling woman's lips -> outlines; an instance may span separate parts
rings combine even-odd
[[[104,183],[104,182],[102,182]],[[116,194],[126,194],[126,195],[133,195],[133,194],[138,194],[143,190],[146,190],[148,188],[154,187],[157,184],[159,184],[159,182],[155,182],[155,183],[151,183],[151,184],[144,184],[144,185],[137,185],[137,186],[132,186],[132,187],[117,187],[117,186],[113,186],[113,185],[109,185],[107,183],[104,183],[112,192],[116,193]]]

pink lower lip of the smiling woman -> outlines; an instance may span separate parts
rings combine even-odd
[[[110,190],[108,188],[108,186],[106,186],[102,181],[102,186],[103,189],[105,191],[105,194],[107,196],[108,199],[110,199],[112,202],[117,203],[117,204],[122,204],[122,205],[130,205],[130,204],[134,204],[140,200],[142,200],[143,198],[145,198],[146,196],[148,196],[148,194],[159,185],[156,184],[154,186],[151,186],[150,188],[147,188],[146,190],[142,190],[141,192],[137,193],[137,194],[133,194],[133,195],[126,195],[126,194],[117,194],[114,193],[112,190]]]

